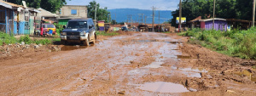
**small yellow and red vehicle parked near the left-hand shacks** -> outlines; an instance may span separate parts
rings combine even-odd
[[[56,27],[53,24],[42,24],[43,31],[41,31],[41,35],[47,35],[51,30],[51,34],[56,34]]]

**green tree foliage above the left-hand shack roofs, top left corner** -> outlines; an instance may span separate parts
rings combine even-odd
[[[52,13],[55,13],[63,5],[67,4],[66,0],[9,0],[8,2],[22,5],[22,1],[26,2],[27,7],[44,8]]]

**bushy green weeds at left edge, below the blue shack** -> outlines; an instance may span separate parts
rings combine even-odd
[[[17,39],[14,36],[10,36],[9,34],[6,34],[2,31],[0,31],[0,46],[3,45],[3,42],[9,44],[9,43],[15,43],[17,42]]]

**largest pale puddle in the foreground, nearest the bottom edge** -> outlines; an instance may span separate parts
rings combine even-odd
[[[145,91],[159,92],[159,93],[189,92],[189,90],[183,87],[183,85],[172,83],[172,82],[146,82],[137,88]]]

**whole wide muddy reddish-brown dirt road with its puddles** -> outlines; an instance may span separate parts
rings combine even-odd
[[[256,93],[253,82],[233,82],[217,69],[198,67],[196,55],[182,48],[186,40],[163,33],[133,33],[90,47],[63,46],[60,52],[3,59],[0,95]]]

